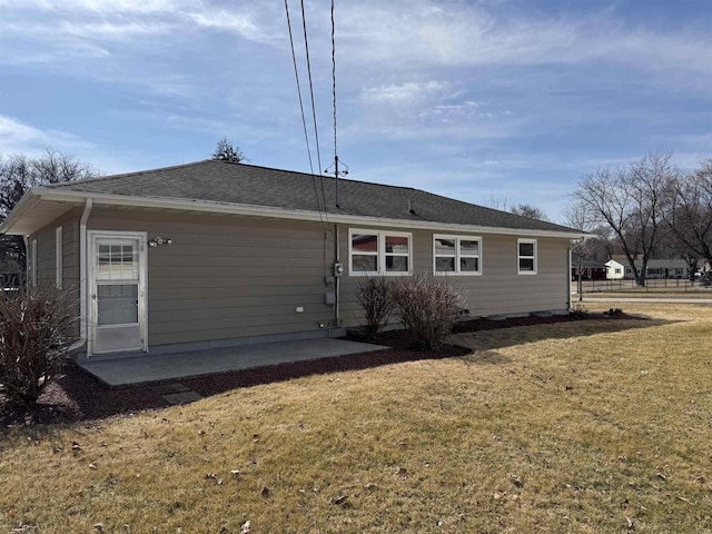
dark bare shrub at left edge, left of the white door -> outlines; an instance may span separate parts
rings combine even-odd
[[[55,286],[0,293],[0,385],[10,404],[32,406],[65,365],[76,294]]]

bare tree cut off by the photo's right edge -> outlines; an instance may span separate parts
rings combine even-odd
[[[696,258],[712,263],[712,158],[702,161],[694,172],[678,177],[671,198],[665,221],[683,245],[681,253],[688,266],[693,259],[696,266]]]

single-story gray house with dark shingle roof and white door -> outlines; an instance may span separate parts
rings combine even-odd
[[[336,336],[363,276],[431,271],[471,316],[567,313],[584,235],[407,187],[206,160],[29,190],[0,231],[79,290],[79,358]]]

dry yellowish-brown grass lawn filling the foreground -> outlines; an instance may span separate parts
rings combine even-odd
[[[459,335],[473,356],[8,431],[0,525],[712,532],[712,307],[624,310],[655,320]]]

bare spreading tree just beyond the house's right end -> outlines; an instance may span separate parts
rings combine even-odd
[[[645,285],[647,261],[666,230],[663,217],[679,174],[671,154],[656,151],[625,167],[596,169],[573,194],[592,220],[606,224],[617,237],[639,286]]]

